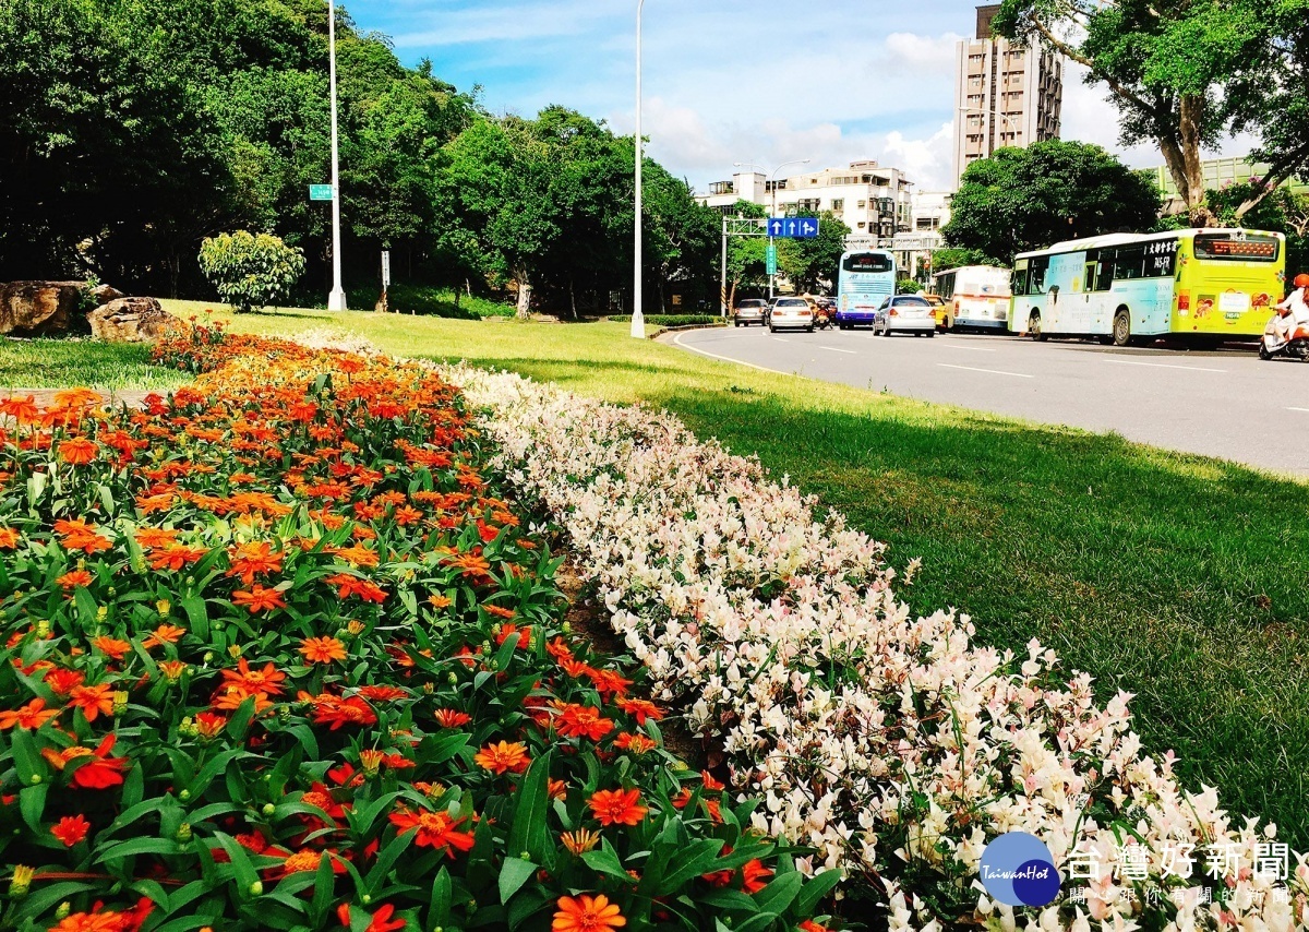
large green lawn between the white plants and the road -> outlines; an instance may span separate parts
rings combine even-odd
[[[203,305],[173,304],[174,313]],[[338,326],[406,356],[467,359],[619,402],[700,436],[923,558],[905,597],[954,606],[978,640],[1031,637],[1132,703],[1147,747],[1190,787],[1309,848],[1309,507],[1305,487],[1117,436],[775,376],[632,340],[627,325],[278,312],[233,327]]]

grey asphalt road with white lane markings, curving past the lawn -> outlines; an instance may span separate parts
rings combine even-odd
[[[1103,347],[991,334],[873,336],[868,330],[690,330],[713,359],[874,391],[1122,436],[1309,475],[1309,365],[1213,351]]]

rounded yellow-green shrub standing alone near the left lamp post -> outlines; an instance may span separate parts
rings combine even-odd
[[[200,243],[200,271],[237,313],[284,301],[305,272],[305,254],[271,233],[224,233]]]

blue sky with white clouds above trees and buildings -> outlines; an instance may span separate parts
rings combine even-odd
[[[346,0],[404,64],[429,58],[496,114],[558,103],[635,126],[636,0]],[[952,182],[954,45],[975,27],[961,0],[645,0],[641,131],[648,154],[696,190],[733,162],[797,171],[876,158],[918,190]],[[1102,85],[1066,71],[1063,137],[1098,143],[1134,168]],[[1244,156],[1249,140],[1215,154]]]

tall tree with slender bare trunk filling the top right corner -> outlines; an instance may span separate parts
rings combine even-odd
[[[1086,65],[1118,106],[1122,141],[1158,145],[1203,226],[1202,151],[1229,132],[1263,135],[1266,181],[1309,168],[1306,24],[1309,0],[1004,0],[992,25]]]

